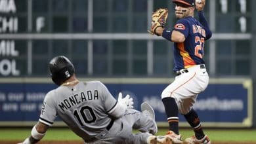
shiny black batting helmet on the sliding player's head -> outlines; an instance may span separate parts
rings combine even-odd
[[[52,80],[60,86],[75,73],[74,65],[65,56],[56,56],[49,63]]]

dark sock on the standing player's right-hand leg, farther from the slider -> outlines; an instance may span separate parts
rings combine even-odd
[[[190,112],[184,115],[184,117],[186,118],[188,124],[190,124],[190,126],[194,129],[196,138],[202,139],[205,134],[203,133],[203,128],[201,126],[201,122],[196,111],[194,111],[194,109],[191,109]]]

